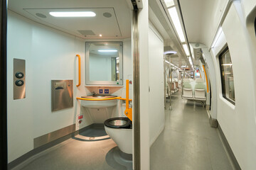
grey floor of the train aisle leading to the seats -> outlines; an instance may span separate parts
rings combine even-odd
[[[165,111],[165,129],[150,149],[150,169],[233,169],[201,103],[183,100],[179,93],[171,100],[172,111]]]

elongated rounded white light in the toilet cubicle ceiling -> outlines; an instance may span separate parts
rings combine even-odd
[[[51,16],[55,17],[92,17],[96,16],[94,12],[50,12]]]

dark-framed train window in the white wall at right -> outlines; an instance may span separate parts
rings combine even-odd
[[[235,87],[233,77],[233,64],[231,62],[228,47],[223,50],[219,56],[220,61],[220,77],[222,85],[223,98],[235,105]]]

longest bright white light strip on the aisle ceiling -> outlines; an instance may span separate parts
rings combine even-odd
[[[168,11],[171,16],[171,21],[174,23],[174,27],[176,29],[176,32],[178,33],[178,38],[181,40],[181,42],[185,42],[185,37],[181,27],[181,22],[179,21],[178,18],[176,7],[174,6],[173,8],[169,8]]]

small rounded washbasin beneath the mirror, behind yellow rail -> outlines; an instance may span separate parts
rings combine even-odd
[[[104,98],[115,98],[117,96],[112,95],[102,95],[102,94],[92,94],[89,96],[82,96],[81,98],[95,98],[95,99],[104,99]],[[112,106],[117,106],[117,100],[107,100],[107,101],[81,101],[81,106],[86,108],[109,108]]]

